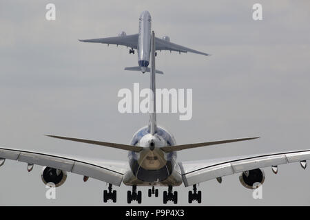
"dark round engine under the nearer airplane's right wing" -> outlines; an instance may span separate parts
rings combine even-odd
[[[245,188],[254,189],[258,184],[263,184],[265,181],[265,173],[261,169],[254,169],[242,172],[239,176],[240,183]]]

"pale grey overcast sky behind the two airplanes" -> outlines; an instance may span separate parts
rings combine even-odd
[[[17,3],[18,2],[18,3]],[[56,5],[56,21],[45,19],[45,5]],[[262,4],[262,21],[252,19],[252,5]],[[81,43],[78,39],[138,32],[143,10],[152,16],[156,36],[212,56],[161,52],[158,88],[193,89],[193,117],[161,113],[158,124],[178,144],[238,137],[260,139],[196,148],[178,160],[212,159],[310,148],[309,1],[0,1],[0,146],[101,159],[126,160],[127,152],[54,140],[43,134],[128,144],[148,115],[117,111],[119,89],[149,86],[149,74],[126,72],[137,56],[121,46]],[[253,199],[238,175],[200,184],[203,206],[310,205],[310,170],[300,164],[264,168],[263,199]],[[6,160],[0,168],[0,204],[95,205],[103,203],[104,182],[68,173],[45,199],[41,166]],[[127,190],[118,205],[127,205]],[[143,205],[163,203],[148,198]],[[178,190],[178,204],[188,205],[191,187]],[[168,203],[172,204],[172,203]],[[196,204],[196,203],[193,203]]]

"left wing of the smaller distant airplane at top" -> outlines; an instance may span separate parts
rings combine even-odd
[[[123,45],[126,47],[132,47],[136,49],[138,46],[138,34],[131,34],[125,36],[112,36],[112,37],[106,37],[104,39],[87,39],[79,41],[89,43],[105,43],[107,45],[109,44]]]

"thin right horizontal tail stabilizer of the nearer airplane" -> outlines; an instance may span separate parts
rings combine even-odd
[[[203,143],[196,143],[196,144],[183,144],[183,145],[175,145],[175,146],[163,146],[161,149],[165,151],[166,153],[172,152],[172,151],[181,151],[189,148],[196,148],[200,146],[209,146],[214,144],[225,144],[225,143],[231,143],[231,142],[241,142],[244,140],[252,140],[259,137],[247,137],[247,138],[239,138],[239,139],[231,139],[231,140],[220,140],[216,142],[203,142]]]

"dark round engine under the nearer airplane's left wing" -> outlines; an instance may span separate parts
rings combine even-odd
[[[65,179],[67,179],[67,172],[44,166],[41,171],[41,179],[45,185],[52,183],[55,187],[58,187],[65,182]]]

